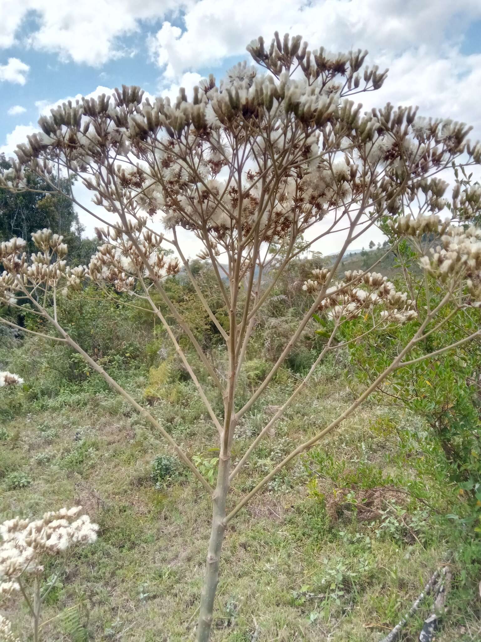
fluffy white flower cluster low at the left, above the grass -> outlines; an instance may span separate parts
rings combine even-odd
[[[32,522],[15,517],[0,525],[0,594],[19,591],[24,573],[42,573],[43,555],[62,555],[96,541],[99,527],[81,511],[81,506],[61,508]]]

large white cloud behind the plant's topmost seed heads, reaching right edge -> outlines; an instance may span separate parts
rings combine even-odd
[[[301,33],[310,47],[335,51],[369,48],[369,64],[389,74],[380,91],[359,94],[366,108],[419,105],[426,116],[451,117],[473,125],[481,137],[478,92],[481,55],[462,55],[466,27],[481,18],[478,0],[199,0],[183,15],[183,28],[164,22],[148,47],[164,70],[163,93],[173,94],[187,74],[244,56],[262,33]],[[260,33],[259,33],[260,32]],[[219,79],[217,79],[219,80]]]

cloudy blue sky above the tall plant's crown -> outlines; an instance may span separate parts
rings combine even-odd
[[[480,0],[0,0],[0,16],[7,156],[58,101],[122,83],[189,93],[276,29],[301,33],[312,49],[369,49],[369,61],[390,72],[366,107],[416,104],[426,116],[472,124],[481,137]]]

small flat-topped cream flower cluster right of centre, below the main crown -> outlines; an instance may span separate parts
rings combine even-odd
[[[326,268],[313,270],[313,279],[305,281],[303,290],[312,295],[325,289],[329,277]],[[352,319],[382,306],[380,318],[385,321],[405,323],[418,317],[414,302],[405,292],[398,292],[394,284],[378,272],[348,270],[342,281],[325,291],[319,302],[319,311],[333,319]]]

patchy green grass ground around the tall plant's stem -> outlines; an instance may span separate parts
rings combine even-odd
[[[251,456],[230,506],[294,444],[350,403],[344,370],[343,363],[318,370],[303,399]],[[124,376],[141,399],[142,373]],[[234,460],[292,385],[294,375],[286,370],[264,404],[244,417]],[[196,401],[193,386],[165,386],[152,412],[191,456],[215,457],[208,418],[199,404],[189,404]],[[210,502],[200,485],[187,474],[167,478],[156,489],[152,462],[172,453],[155,430],[119,397],[97,390],[94,381],[40,401],[16,399],[9,406],[22,412],[3,425],[0,519],[81,504],[100,525],[96,544],[76,554],[62,587],[52,593],[44,639],[194,639],[210,530]],[[453,559],[450,616],[438,639],[480,639],[481,547],[471,535],[463,540],[462,529],[445,517],[458,509],[462,514],[461,500],[426,477],[420,484],[423,501],[376,490],[373,515],[366,518],[369,484],[377,488],[378,483],[375,469],[419,490],[410,462],[396,464],[403,451],[397,433],[389,431],[391,424],[414,430],[416,422],[407,415],[389,419],[382,408],[367,404],[319,446],[316,456],[298,460],[230,523],[214,641],[376,642],[409,609],[450,549],[459,554]],[[361,482],[350,473],[359,468],[365,471]],[[30,484],[12,487],[12,475]],[[396,516],[396,507],[405,511],[408,526]],[[404,641],[418,639],[430,606],[426,600],[419,617],[410,620]],[[20,602],[6,603],[5,612],[15,630],[30,630]]]

